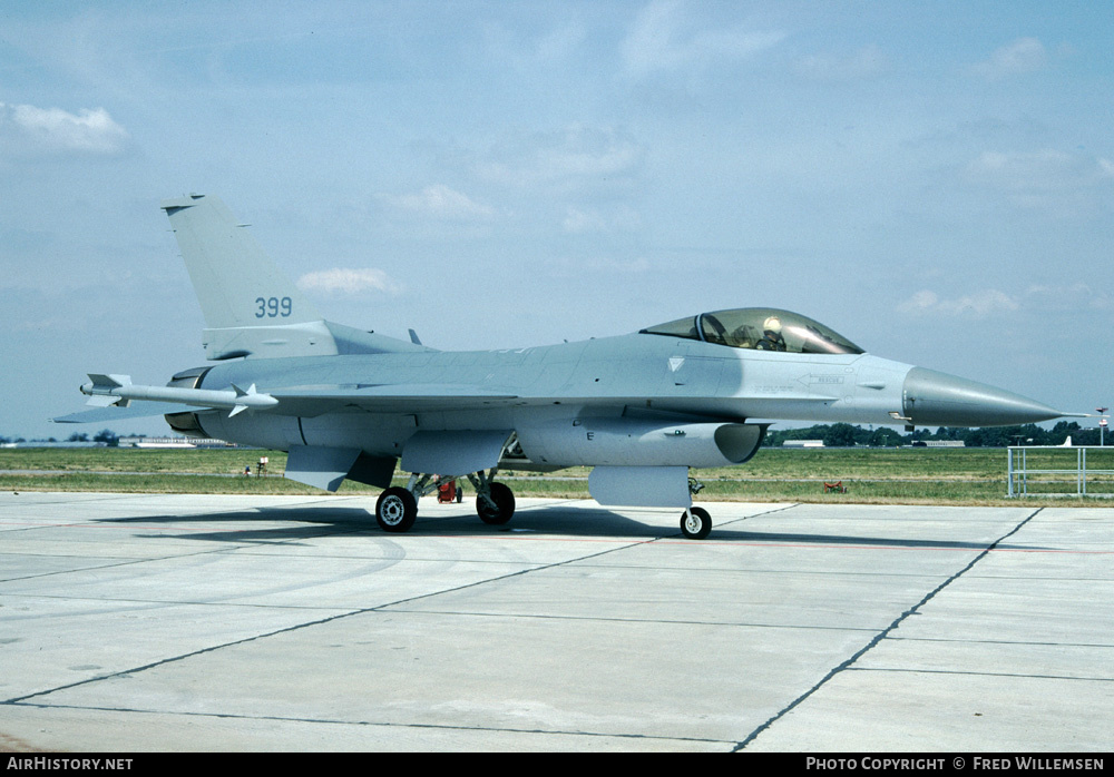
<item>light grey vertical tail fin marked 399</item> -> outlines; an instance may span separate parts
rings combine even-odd
[[[410,350],[324,321],[217,197],[164,200],[205,316],[208,358],[328,356]]]

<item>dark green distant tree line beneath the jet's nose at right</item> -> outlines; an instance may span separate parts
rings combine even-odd
[[[1073,445],[1097,445],[1098,430],[1083,429],[1075,421],[1061,421],[1052,429],[1036,424],[1022,426],[986,426],[966,429],[962,426],[940,426],[935,432],[917,429],[901,434],[889,426],[863,429],[851,424],[819,424],[808,429],[771,429],[762,445],[780,447],[786,440],[823,440],[825,447],[897,447],[912,445],[929,440],[961,440],[968,447],[1005,447],[1006,445],[1063,445],[1067,437]],[[1106,436],[1110,436],[1108,434]],[[1107,444],[1114,441],[1107,440]]]

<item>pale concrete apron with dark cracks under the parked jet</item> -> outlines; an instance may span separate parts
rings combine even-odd
[[[1106,751],[1114,508],[0,494],[0,749]]]

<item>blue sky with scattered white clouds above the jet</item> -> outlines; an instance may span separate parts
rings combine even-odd
[[[188,193],[326,318],[438,348],[770,306],[1114,404],[1111,30],[1071,0],[0,0],[0,435],[91,435],[49,422],[87,373],[206,363],[159,210]]]

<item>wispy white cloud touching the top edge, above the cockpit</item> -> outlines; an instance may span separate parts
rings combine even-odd
[[[620,52],[628,73],[645,76],[655,71],[705,68],[734,62],[765,51],[784,38],[784,32],[760,32],[743,24],[722,29],[686,29],[682,9],[672,0],[649,3],[638,14]]]

